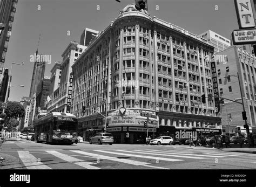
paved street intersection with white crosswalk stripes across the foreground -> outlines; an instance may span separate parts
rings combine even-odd
[[[72,146],[6,141],[1,169],[256,169],[256,157],[207,147],[145,144]]]

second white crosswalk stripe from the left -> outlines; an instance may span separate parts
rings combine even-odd
[[[73,164],[79,165],[80,167],[83,167],[83,168],[86,168],[86,169],[100,169],[98,167],[90,165],[90,164],[95,164],[93,162],[82,162],[84,160],[80,160],[78,158],[75,158],[75,157],[72,157],[72,156],[69,156],[69,155],[65,155],[65,154],[59,153],[57,151],[46,151],[46,152],[64,160],[64,161],[72,162]]]

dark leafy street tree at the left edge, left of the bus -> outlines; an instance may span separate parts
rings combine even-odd
[[[0,103],[0,112],[1,110],[3,111],[3,108],[1,106],[1,103]],[[4,127],[6,127],[10,121],[10,119],[12,117],[23,117],[25,116],[25,109],[23,107],[23,105],[21,105],[20,103],[18,102],[12,102],[12,101],[8,101],[7,102],[7,107],[5,108],[5,118],[4,118]],[[2,115],[4,115],[2,113]]]

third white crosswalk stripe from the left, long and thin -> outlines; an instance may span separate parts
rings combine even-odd
[[[87,155],[87,156],[91,156],[91,157],[95,157],[98,159],[106,159],[106,160],[111,160],[111,161],[116,161],[116,162],[122,162],[122,163],[126,163],[126,164],[132,164],[132,165],[143,165],[145,167],[151,167],[147,162],[140,162],[140,161],[133,161],[133,160],[129,160],[129,159],[125,159],[125,158],[116,158],[116,157],[110,157],[110,156],[104,156],[104,155],[98,155],[98,154],[93,154],[93,153],[88,153],[85,151],[79,151],[79,150],[71,150],[72,152],[78,153],[78,154],[82,154],[82,155]],[[162,167],[152,167],[152,168],[158,168],[158,169],[167,169],[167,168],[162,168]]]

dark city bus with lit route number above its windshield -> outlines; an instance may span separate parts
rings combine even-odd
[[[77,117],[69,113],[52,112],[35,122],[35,138],[37,142],[67,143],[78,142]]]

